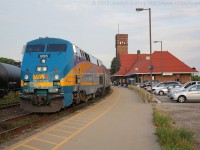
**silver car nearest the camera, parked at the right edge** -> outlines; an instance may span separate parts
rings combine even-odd
[[[170,99],[180,103],[187,100],[200,100],[200,85],[192,85],[182,91],[174,92]]]

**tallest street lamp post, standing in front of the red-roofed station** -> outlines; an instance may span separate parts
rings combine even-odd
[[[144,8],[136,8],[136,11],[143,11],[143,10],[149,10],[149,45],[150,45],[150,82],[151,82],[151,94],[152,94],[152,44],[151,44],[151,8],[144,9]]]

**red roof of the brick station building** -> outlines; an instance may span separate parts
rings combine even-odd
[[[121,54],[120,70],[113,76],[129,76],[132,74],[149,74],[149,54]],[[196,73],[177,57],[168,51],[154,51],[152,53],[153,74],[161,73]]]

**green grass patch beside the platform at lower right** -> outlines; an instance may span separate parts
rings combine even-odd
[[[193,133],[185,128],[172,127],[172,119],[162,111],[154,109],[156,135],[163,150],[194,150]]]

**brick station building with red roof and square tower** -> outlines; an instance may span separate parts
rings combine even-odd
[[[117,83],[142,83],[150,80],[150,54],[142,54],[140,50],[136,54],[128,54],[128,34],[117,34],[115,41],[120,69],[112,76],[114,80]],[[198,72],[165,50],[152,52],[152,66],[152,80],[159,82],[185,83],[191,81],[194,73]]]

